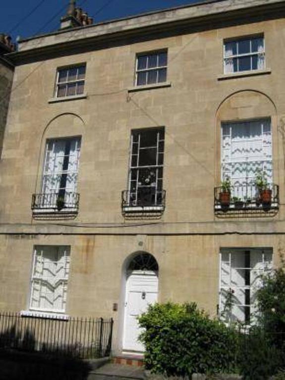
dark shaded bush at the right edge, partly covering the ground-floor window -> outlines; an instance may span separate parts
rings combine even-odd
[[[257,290],[258,328],[244,336],[240,347],[240,372],[245,380],[284,379],[285,373],[285,263],[261,277]],[[283,377],[282,377],[283,376]]]

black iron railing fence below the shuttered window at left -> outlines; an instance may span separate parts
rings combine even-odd
[[[0,313],[0,348],[57,355],[100,358],[112,348],[113,319],[68,320]]]

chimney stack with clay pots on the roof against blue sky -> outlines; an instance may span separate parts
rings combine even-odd
[[[76,7],[76,0],[69,0],[66,15],[60,19],[60,30],[72,29],[78,26],[93,24],[93,18],[88,13]]]

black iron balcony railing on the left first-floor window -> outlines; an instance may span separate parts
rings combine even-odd
[[[32,195],[33,213],[68,213],[77,214],[79,206],[79,194],[66,191],[38,193]]]

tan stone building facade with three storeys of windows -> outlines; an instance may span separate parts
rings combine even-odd
[[[253,321],[285,245],[284,14],[206,1],[19,43],[0,309],[113,317],[115,352],[156,300]]]

